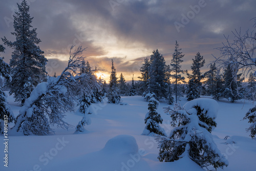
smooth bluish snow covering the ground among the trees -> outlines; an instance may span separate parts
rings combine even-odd
[[[66,121],[74,125],[68,131],[55,128],[55,135],[50,136],[9,135],[8,167],[4,167],[4,143],[1,143],[0,170],[203,170],[188,158],[159,162],[158,144],[153,137],[141,135],[148,103],[140,96],[122,97],[122,100],[127,105],[93,104],[92,124],[81,134],[74,132],[82,116],[67,113]],[[12,97],[8,101],[17,115],[20,106]],[[181,105],[186,102],[181,98]],[[245,131],[249,123],[242,120],[253,104],[244,100],[230,103],[224,99],[218,103],[217,127],[212,135],[229,161],[223,170],[255,170],[256,141]],[[163,112],[166,106],[160,103],[158,112],[163,118],[160,125],[168,135],[172,127],[170,117]],[[230,138],[224,140],[226,136]],[[4,137],[0,138],[3,142]]]

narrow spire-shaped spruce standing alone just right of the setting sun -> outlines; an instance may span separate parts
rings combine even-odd
[[[116,68],[114,67],[114,61],[112,61],[111,75],[110,75],[110,89],[106,97],[108,97],[108,103],[119,104],[121,102],[121,96],[118,89]]]

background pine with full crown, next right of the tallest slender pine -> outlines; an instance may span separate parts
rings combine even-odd
[[[205,60],[203,59],[203,56],[198,52],[197,55],[195,56],[195,59],[192,59],[193,63],[191,66],[192,70],[192,75],[187,74],[189,80],[193,79],[195,82],[195,85],[197,87],[198,93],[200,95],[201,89],[202,89],[202,78],[203,75],[201,73],[201,68],[204,66]]]

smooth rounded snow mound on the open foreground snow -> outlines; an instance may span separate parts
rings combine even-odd
[[[133,136],[118,135],[106,142],[102,151],[111,154],[134,154],[138,153],[138,144]]]

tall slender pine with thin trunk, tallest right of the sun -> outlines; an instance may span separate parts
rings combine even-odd
[[[173,83],[175,84],[174,92],[175,92],[175,102],[177,103],[178,97],[181,96],[181,91],[178,88],[181,81],[185,83],[185,77],[182,77],[180,73],[186,73],[187,71],[181,70],[181,62],[183,62],[182,58],[184,55],[182,55],[181,49],[179,49],[179,44],[176,40],[175,43],[175,50],[173,54],[173,59],[170,62],[170,73],[171,78],[174,79]],[[172,74],[174,73],[174,74]]]

